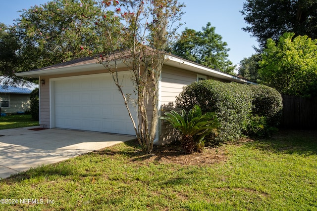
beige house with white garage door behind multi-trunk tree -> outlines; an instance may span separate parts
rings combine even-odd
[[[96,57],[79,58],[16,74],[39,78],[41,127],[135,135],[122,96],[106,68],[97,61]],[[124,92],[133,93],[131,72],[124,62],[118,61],[117,65]],[[204,79],[252,83],[178,56],[165,55],[159,105],[174,102],[184,85]],[[137,120],[136,110],[132,116]],[[161,130],[159,124],[157,137],[161,137]]]

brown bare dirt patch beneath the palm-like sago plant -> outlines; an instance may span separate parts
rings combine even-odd
[[[205,148],[202,153],[185,154],[180,146],[177,145],[164,145],[155,146],[153,148],[153,154],[144,155],[140,153],[140,156],[133,157],[132,162],[143,163],[158,162],[159,164],[178,164],[182,166],[206,166],[225,162],[227,160],[228,152],[224,146],[217,148]]]

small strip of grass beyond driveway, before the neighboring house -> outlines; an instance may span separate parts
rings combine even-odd
[[[38,126],[39,121],[34,121],[31,115],[10,115],[0,117],[0,129],[10,129],[17,127]]]

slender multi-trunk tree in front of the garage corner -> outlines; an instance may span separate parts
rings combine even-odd
[[[137,139],[145,153],[151,153],[159,120],[159,79],[166,51],[178,27],[183,4],[177,0],[104,0],[105,10],[112,9],[122,17],[123,25],[112,29],[104,17],[104,54],[100,63],[108,70],[118,87],[129,113]],[[132,72],[134,93],[124,93],[118,77],[119,63]],[[131,115],[135,101],[138,120]],[[159,137],[157,137],[159,138]]]

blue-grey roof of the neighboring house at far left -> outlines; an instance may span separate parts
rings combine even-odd
[[[4,83],[6,82],[6,83]],[[13,80],[8,77],[0,77],[0,93],[6,94],[30,94],[35,88],[39,87],[38,84],[31,82],[12,83]]]

